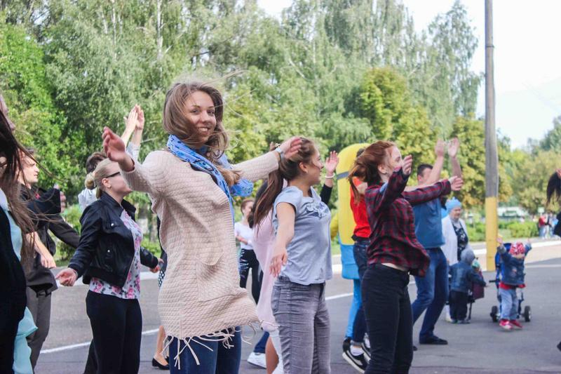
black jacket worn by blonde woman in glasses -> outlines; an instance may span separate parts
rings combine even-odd
[[[108,194],[83,211],[80,243],[68,267],[83,275],[83,283],[90,279],[102,279],[111,285],[122,287],[135,256],[133,234],[121,220],[123,208],[135,218],[135,207],[123,200],[121,205]],[[145,248],[140,248],[140,262],[150,268],[158,265],[158,258]]]

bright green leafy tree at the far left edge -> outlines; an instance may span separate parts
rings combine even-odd
[[[36,41],[24,27],[0,20],[0,92],[16,123],[16,135],[26,147],[36,149],[40,165],[50,172],[41,173],[41,185],[56,182],[66,188],[67,177],[76,173],[68,152],[75,145],[64,132],[65,119],[53,105],[51,89]]]

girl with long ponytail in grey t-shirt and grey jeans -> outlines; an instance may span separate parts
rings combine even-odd
[[[337,162],[336,152],[325,162],[330,185]],[[271,173],[255,208],[255,222],[273,210],[276,239],[271,264],[264,271],[278,276],[271,309],[279,325],[285,373],[331,371],[325,305],[325,281],[332,277],[331,213],[313,189],[323,168],[316,146],[302,139],[298,154],[281,160],[278,171]],[[284,189],[283,179],[288,181]]]

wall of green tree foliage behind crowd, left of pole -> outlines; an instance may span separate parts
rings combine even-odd
[[[389,138],[432,161],[437,136],[475,121],[477,41],[459,2],[421,33],[396,0],[294,0],[280,19],[241,0],[7,0],[0,11],[2,32],[15,33],[0,40],[0,89],[71,199],[102,128],[122,131],[135,103],[147,117],[141,156],[163,147],[163,98],[178,77],[222,87],[233,161],[295,134],[322,152]]]

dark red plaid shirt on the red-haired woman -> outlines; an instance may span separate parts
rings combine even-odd
[[[389,262],[409,269],[413,275],[425,276],[430,259],[415,235],[411,206],[450,194],[451,187],[448,180],[443,180],[405,192],[408,179],[398,168],[387,183],[370,186],[365,192],[368,222],[372,229],[368,264]]]

